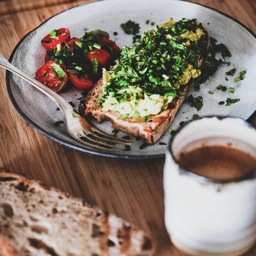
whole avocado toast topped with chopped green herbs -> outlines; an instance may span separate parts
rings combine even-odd
[[[80,104],[80,114],[154,144],[165,133],[187,95],[209,47],[196,19],[170,19],[123,47],[110,71]]]

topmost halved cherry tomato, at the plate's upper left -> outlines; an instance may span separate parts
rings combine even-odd
[[[70,40],[70,32],[68,28],[59,28],[52,30],[41,40],[42,46],[46,49],[53,49],[57,44]]]

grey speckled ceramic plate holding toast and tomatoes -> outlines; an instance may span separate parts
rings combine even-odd
[[[159,142],[162,143],[159,144],[158,142],[154,146],[139,149],[143,142],[132,138],[134,143],[130,151],[113,152],[113,154],[82,146],[69,136],[64,126],[55,126],[56,121],[63,120],[63,115],[60,111],[56,111],[56,105],[49,98],[19,77],[7,72],[7,88],[15,108],[27,122],[41,133],[65,146],[95,155],[131,159],[163,157],[166,150],[164,143],[167,144],[170,140],[171,130],[177,129],[181,121],[191,119],[193,114],[200,116],[218,114],[232,115],[243,119],[249,118],[256,108],[255,35],[233,18],[195,3],[170,0],[106,0],[73,7],[46,20],[24,36],[11,54],[10,61],[28,75],[34,76],[36,70],[44,63],[46,53],[40,44],[40,39],[53,28],[68,27],[72,37],[81,37],[85,28],[88,30],[100,28],[108,31],[110,38],[116,40],[119,46],[125,46],[131,45],[132,39],[130,35],[126,35],[121,30],[119,26],[121,23],[129,19],[134,20],[140,24],[142,33],[151,27],[150,24],[146,24],[147,19],[158,24],[165,22],[170,17],[173,17],[174,20],[183,17],[199,19],[207,27],[210,36],[229,47],[232,57],[229,59],[231,62],[229,67],[223,65],[213,77],[201,86],[199,92],[192,92],[194,96],[203,96],[203,108],[197,112],[195,108],[185,102],[170,129],[160,139]],[[113,36],[114,31],[118,32],[117,36]],[[237,71],[246,69],[245,79],[235,83],[234,77],[229,77],[229,81],[225,81],[225,72],[231,68],[236,68]],[[234,87],[235,93],[216,90],[218,84]],[[214,94],[209,94],[209,90],[214,90]],[[77,98],[81,97],[81,91],[73,89],[62,93],[61,96],[67,101],[73,101],[77,108],[79,104]],[[241,100],[231,106],[218,105],[218,102],[225,101],[227,97],[240,98]],[[93,120],[92,122],[96,123]],[[104,131],[112,131],[109,122],[96,125]],[[123,135],[125,134],[118,133],[118,137]]]

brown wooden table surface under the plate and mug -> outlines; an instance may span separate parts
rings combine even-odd
[[[53,14],[83,2],[88,0],[0,1],[0,52],[9,57],[28,31]],[[192,2],[219,9],[256,32],[254,0]],[[2,68],[0,85],[0,167],[82,197],[133,222],[151,234],[157,244],[157,256],[184,255],[171,244],[164,228],[164,159],[107,159],[61,146],[19,116],[7,94]],[[246,255],[256,255],[255,246]]]

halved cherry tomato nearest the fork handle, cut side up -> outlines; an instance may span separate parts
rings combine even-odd
[[[57,73],[57,71],[59,72]],[[48,61],[42,65],[36,71],[35,79],[49,87],[53,92],[60,92],[68,84],[68,75],[65,66],[54,61]]]

